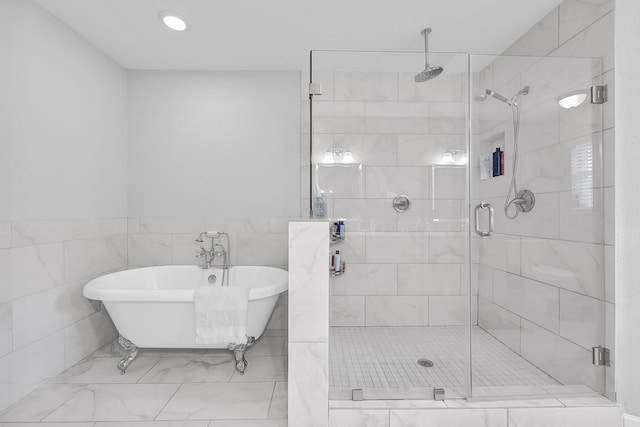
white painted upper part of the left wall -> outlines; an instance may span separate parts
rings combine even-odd
[[[33,2],[2,8],[11,218],[126,215],[126,73]]]

